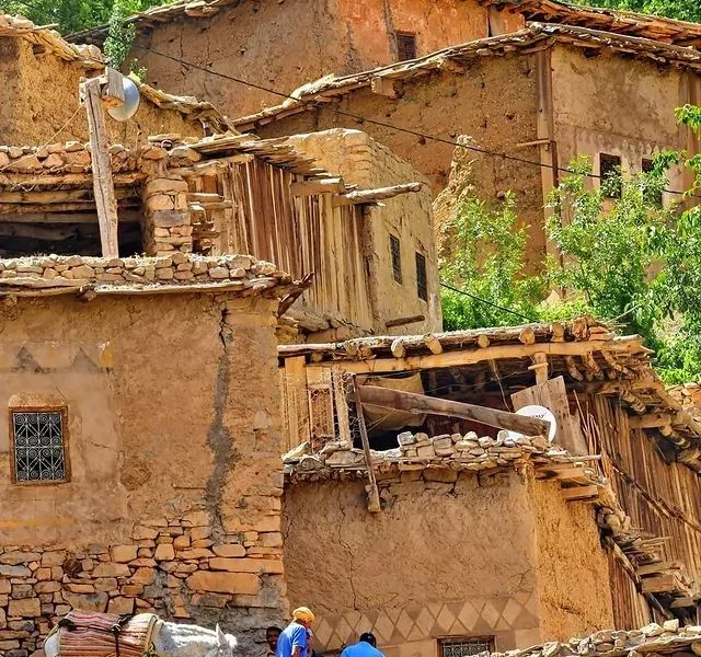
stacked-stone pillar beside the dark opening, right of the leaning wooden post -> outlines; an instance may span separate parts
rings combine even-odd
[[[182,177],[169,177],[165,172],[143,184],[143,249],[147,255],[192,252],[187,182]]]

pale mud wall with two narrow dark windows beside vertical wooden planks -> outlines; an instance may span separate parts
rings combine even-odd
[[[424,182],[407,162],[394,155],[360,130],[334,129],[290,137],[289,142],[314,158],[320,166],[338,174],[347,184],[361,189]],[[367,234],[365,257],[370,266],[371,301],[376,332],[415,334],[440,331],[443,319],[438,289],[438,263],[433,229],[428,186],[421,193],[403,194],[368,207],[365,215]],[[394,280],[389,235],[400,239],[402,283]],[[415,253],[426,256],[428,301],[416,295]],[[384,323],[401,318],[423,315],[423,322],[387,328]]]

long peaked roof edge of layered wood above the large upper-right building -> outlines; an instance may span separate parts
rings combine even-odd
[[[371,88],[377,80],[410,80],[434,71],[450,71],[450,61],[460,62],[479,57],[504,56],[509,53],[530,53],[539,46],[562,44],[583,48],[589,53],[610,49],[637,57],[657,65],[688,68],[701,71],[701,53],[694,48],[666,44],[650,38],[614,34],[588,27],[531,23],[510,34],[482,38],[459,46],[451,46],[410,61],[392,64],[350,76],[327,76],[310,82],[290,93],[290,99],[261,112],[233,119],[243,130],[254,129],[291,114],[313,110],[317,103],[344,96],[359,89]]]

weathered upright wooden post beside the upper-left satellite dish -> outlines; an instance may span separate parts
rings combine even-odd
[[[104,78],[92,78],[82,83],[82,96],[88,113],[90,130],[90,158],[92,160],[92,185],[100,223],[100,241],[103,257],[119,257],[117,241],[117,199],[112,180],[112,161],[102,106]]]

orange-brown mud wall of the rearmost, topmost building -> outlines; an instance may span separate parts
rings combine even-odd
[[[417,35],[417,54],[487,36],[476,0],[285,0],[240,2],[210,19],[179,19],[141,34],[133,56],[148,82],[208,100],[230,116],[276,105],[280,96],[191,69],[184,59],[272,90],[331,73],[397,61],[395,31]],[[157,53],[161,55],[157,55]]]

